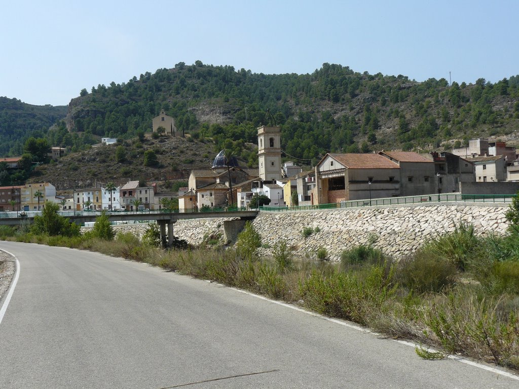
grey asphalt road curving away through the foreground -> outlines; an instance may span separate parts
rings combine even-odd
[[[215,283],[0,242],[20,276],[0,388],[519,388],[519,380]],[[184,386],[185,385],[185,386]]]

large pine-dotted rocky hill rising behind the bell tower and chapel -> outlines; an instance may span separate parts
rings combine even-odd
[[[85,89],[71,102],[66,124],[72,132],[129,137],[151,131],[152,118],[164,109],[179,129],[212,137],[217,149],[227,138],[254,143],[256,127],[273,122],[269,109],[282,126],[283,149],[297,158],[319,158],[327,151],[435,149],[474,136],[513,138],[518,87],[518,76],[449,86],[445,79],[416,82],[327,63],[312,74],[265,75],[197,61],[121,85],[99,85],[90,93]]]

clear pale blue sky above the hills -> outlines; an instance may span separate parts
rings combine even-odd
[[[65,105],[178,62],[467,83],[519,74],[519,1],[5,1],[0,96]]]

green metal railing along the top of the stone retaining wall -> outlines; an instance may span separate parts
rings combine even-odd
[[[326,210],[334,208],[352,208],[362,206],[383,206],[401,204],[424,204],[438,202],[483,202],[483,203],[511,203],[515,195],[461,195],[459,193],[446,193],[440,195],[389,197],[382,199],[361,199],[342,201],[340,203],[298,205],[298,206],[269,206],[260,207],[260,211],[266,212],[297,212],[311,210]]]

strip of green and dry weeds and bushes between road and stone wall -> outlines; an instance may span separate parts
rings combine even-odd
[[[313,257],[295,259],[285,240],[269,247],[271,256],[261,256],[262,239],[250,223],[234,247],[195,248],[174,239],[174,248],[165,251],[154,225],[142,239],[130,232],[114,237],[101,215],[89,233],[79,235],[50,211],[42,215],[48,220],[29,230],[0,227],[0,238],[146,262],[440,350],[432,355],[417,349],[424,358],[458,354],[519,371],[519,217],[514,219],[519,203],[507,213],[510,228],[504,235],[479,237],[472,225],[459,224],[399,261],[372,241],[348,247],[335,262],[324,247],[316,247]],[[59,235],[61,228],[69,236]],[[315,229],[302,235],[311,233]]]

